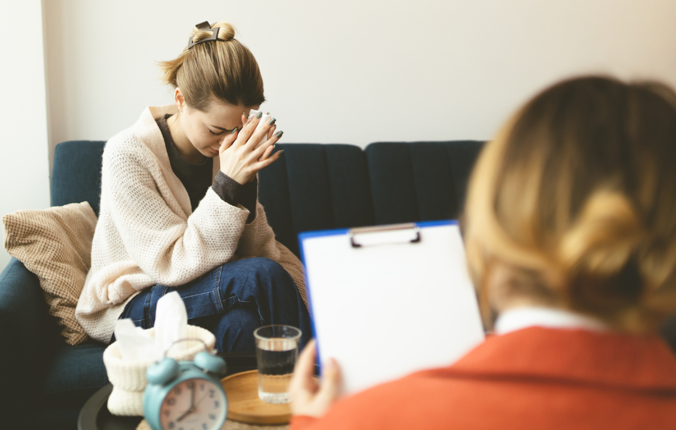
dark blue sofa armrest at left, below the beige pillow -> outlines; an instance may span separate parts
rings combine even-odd
[[[35,398],[47,360],[49,316],[38,277],[11,259],[0,273],[0,387],[11,387],[9,408]],[[53,325],[53,324],[52,324]]]

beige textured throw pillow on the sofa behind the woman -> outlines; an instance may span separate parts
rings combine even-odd
[[[91,266],[96,214],[89,203],[25,210],[2,217],[5,249],[40,279],[49,315],[57,318],[69,345],[87,334],[75,319],[75,306]]]

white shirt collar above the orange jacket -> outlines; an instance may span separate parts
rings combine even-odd
[[[593,317],[587,317],[556,308],[524,306],[512,308],[498,316],[494,332],[498,335],[526,327],[548,327],[558,329],[587,329],[604,331],[608,327]]]

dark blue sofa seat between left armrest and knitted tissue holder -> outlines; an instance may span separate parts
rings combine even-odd
[[[49,360],[42,386],[45,406],[80,408],[92,394],[106,385],[105,347],[93,340],[76,346],[59,345]]]

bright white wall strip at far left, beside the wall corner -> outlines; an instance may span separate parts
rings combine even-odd
[[[49,207],[40,0],[0,2],[0,41],[0,215],[4,215]],[[1,247],[0,271],[9,259]]]

